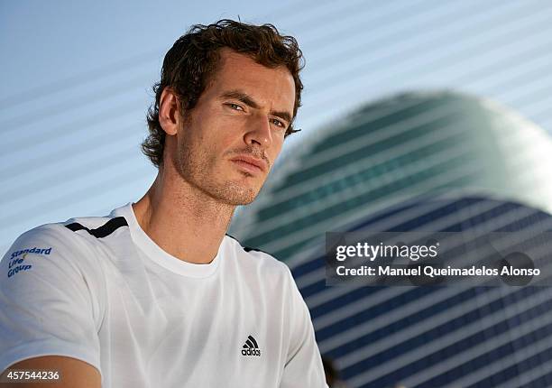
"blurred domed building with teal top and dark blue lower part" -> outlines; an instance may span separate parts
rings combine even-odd
[[[549,386],[548,287],[327,287],[321,258],[327,231],[550,230],[548,171],[548,135],[509,109],[404,94],[288,152],[230,233],[289,263],[351,386]]]

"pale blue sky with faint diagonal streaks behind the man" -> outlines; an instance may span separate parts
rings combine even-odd
[[[239,18],[297,38],[292,157],[318,129],[405,91],[491,98],[552,132],[551,16],[544,0],[0,2],[0,250],[143,196],[156,172],[139,150],[151,87],[194,23]]]

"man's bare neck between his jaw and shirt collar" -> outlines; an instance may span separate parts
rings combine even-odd
[[[152,187],[133,204],[138,224],[168,254],[189,263],[211,263],[235,206],[168,176],[167,170],[161,168]]]

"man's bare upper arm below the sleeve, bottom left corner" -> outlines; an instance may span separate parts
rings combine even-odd
[[[41,356],[28,358],[8,367],[2,374],[2,381],[6,381],[5,375],[10,369],[35,369],[41,371],[58,371],[60,380],[56,383],[48,383],[51,388],[100,388],[101,377],[97,369],[76,358],[62,356]],[[39,387],[41,383],[0,383],[0,388]]]

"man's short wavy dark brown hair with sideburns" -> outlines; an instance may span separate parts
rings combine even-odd
[[[165,145],[165,132],[159,123],[163,89],[170,87],[174,90],[181,102],[182,113],[193,109],[216,71],[220,49],[225,47],[248,55],[269,68],[287,67],[295,82],[293,118],[297,115],[303,89],[299,71],[304,60],[295,38],[281,35],[272,24],[252,25],[223,19],[209,25],[194,25],[167,52],[161,81],[153,86],[155,103],[147,115],[150,134],[142,143],[142,151],[156,167],[163,162]],[[285,135],[295,132],[298,130],[290,123]]]

